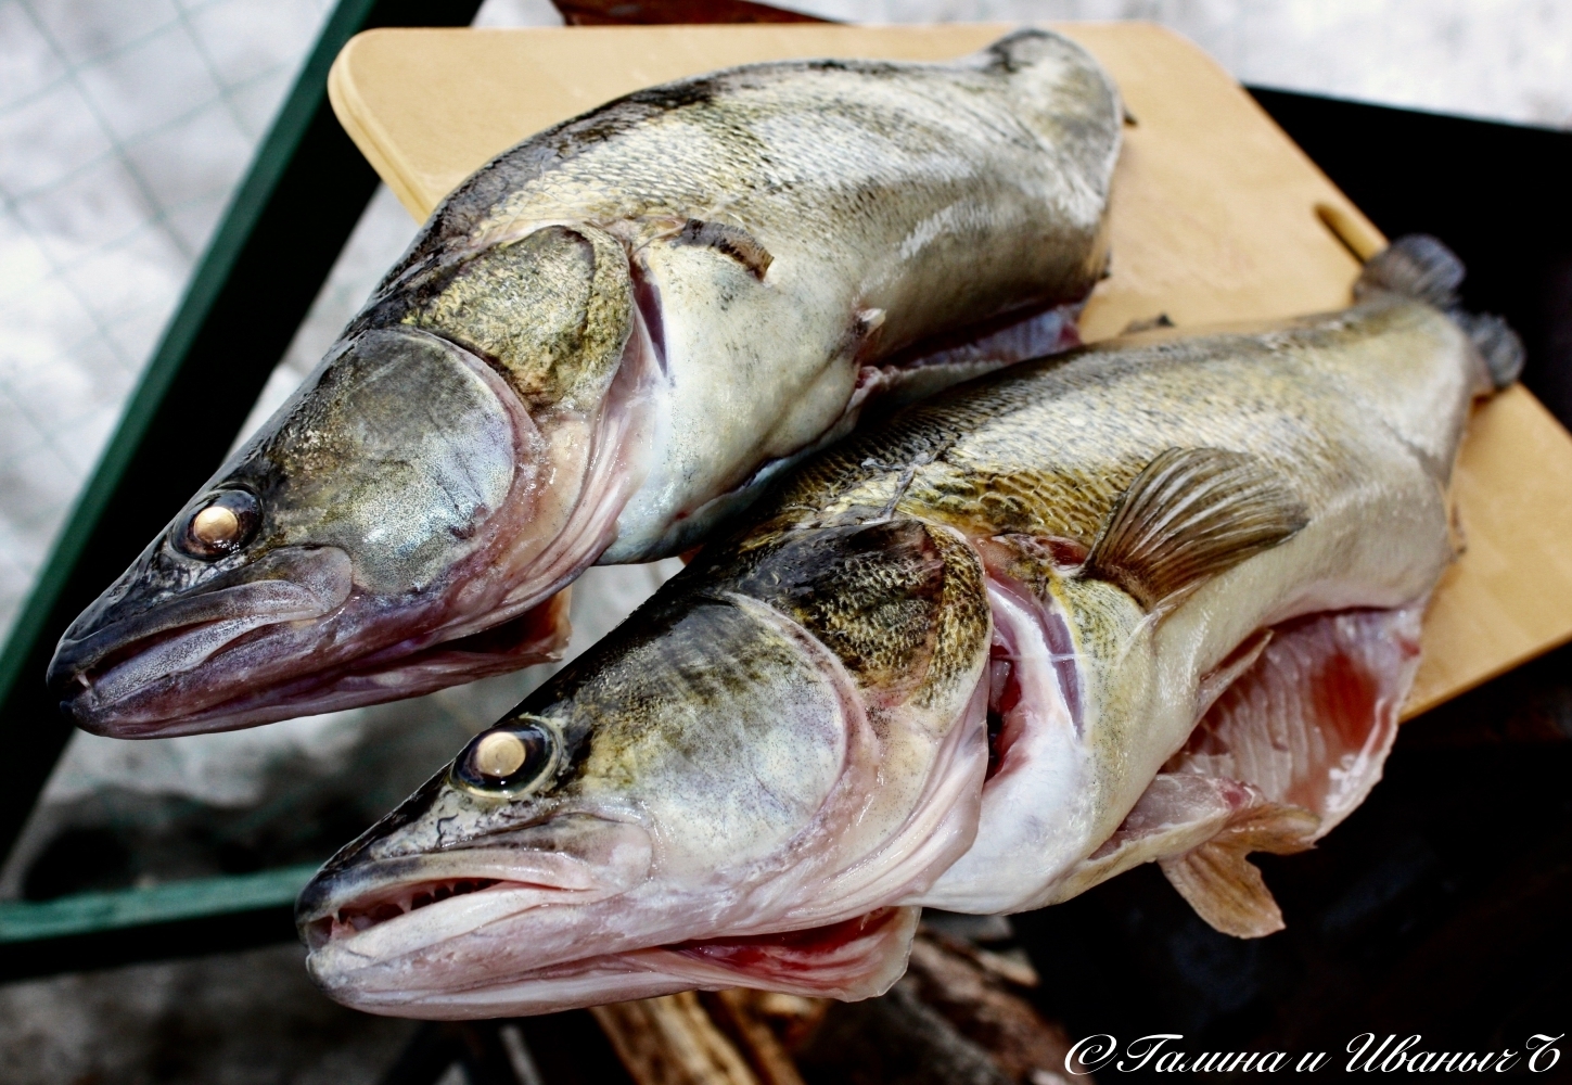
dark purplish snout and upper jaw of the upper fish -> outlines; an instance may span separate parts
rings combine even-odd
[[[349,599],[351,588],[352,566],[344,550],[285,547],[226,571],[195,593],[107,594],[61,637],[46,681],[77,726],[137,737],[148,733],[138,720],[184,675],[212,664],[247,634],[330,615]],[[222,667],[204,670],[214,698],[233,695],[228,682],[236,675]],[[168,733],[163,719],[156,714],[159,733]]]

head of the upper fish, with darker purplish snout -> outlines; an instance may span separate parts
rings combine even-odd
[[[652,359],[629,283],[588,226],[390,277],[66,631],[66,712],[119,737],[212,731],[552,657],[553,594],[637,484]]]

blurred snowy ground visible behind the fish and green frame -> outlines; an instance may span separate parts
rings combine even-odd
[[[1558,0],[781,6],[855,22],[1151,19],[1253,86],[1572,127],[1572,5]],[[329,0],[0,0],[0,634],[330,11]],[[547,0],[487,0],[476,17],[560,24]],[[417,228],[380,189],[245,432]],[[574,596],[574,649],[674,568],[591,571]],[[0,870],[0,898],[319,862],[545,673],[233,734],[75,734]],[[412,1028],[322,1000],[289,945],[0,986],[8,1082],[374,1082]]]

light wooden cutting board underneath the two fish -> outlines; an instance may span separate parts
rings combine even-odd
[[[417,219],[531,132],[640,86],[792,57],[946,60],[1011,30],[729,25],[371,30],[329,75],[338,120]],[[1064,24],[1132,113],[1113,195],[1113,275],[1086,338],[1341,308],[1385,239],[1259,105],[1184,38]],[[1572,638],[1572,437],[1523,388],[1479,409],[1456,476],[1467,552],[1424,623],[1416,715]]]

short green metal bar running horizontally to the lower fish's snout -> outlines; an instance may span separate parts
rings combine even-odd
[[[146,888],[74,893],[53,901],[5,901],[0,903],[0,943],[289,906],[316,870],[311,863],[256,874],[195,877]]]

